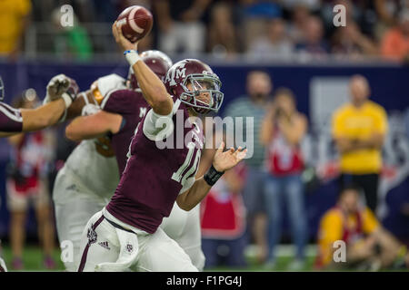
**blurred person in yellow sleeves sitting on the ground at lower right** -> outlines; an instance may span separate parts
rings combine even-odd
[[[334,208],[321,218],[318,229],[317,268],[353,267],[359,270],[379,270],[402,260],[407,249],[384,229],[371,209],[359,203],[359,189],[346,186]],[[344,263],[334,262],[334,245],[344,241]]]

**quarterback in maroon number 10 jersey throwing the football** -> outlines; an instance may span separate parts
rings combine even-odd
[[[159,226],[175,201],[186,211],[195,208],[223,172],[244,159],[246,150],[224,151],[222,142],[211,169],[195,179],[203,134],[189,117],[218,111],[223,102],[219,78],[205,63],[188,59],[171,67],[164,84],[136,52],[137,43],[130,43],[116,23],[113,34],[152,109],[136,127],[114,197],[83,231],[78,271],[197,271]],[[177,112],[183,122],[175,128]],[[176,144],[178,138],[182,149],[159,149],[157,142]],[[110,245],[110,250],[100,244]]]

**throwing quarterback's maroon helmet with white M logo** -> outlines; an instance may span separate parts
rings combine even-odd
[[[195,59],[175,63],[165,77],[167,92],[199,114],[220,109],[224,98],[221,86],[210,66]]]

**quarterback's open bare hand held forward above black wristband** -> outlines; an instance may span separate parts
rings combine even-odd
[[[237,150],[234,148],[230,148],[230,150],[224,150],[224,142],[222,142],[218,148],[218,150],[214,154],[213,158],[213,166],[219,172],[224,172],[228,169],[234,168],[234,166],[244,160],[245,154],[247,150],[243,150],[239,147]]]

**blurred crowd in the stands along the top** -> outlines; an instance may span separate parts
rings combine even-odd
[[[59,25],[60,6],[66,4],[74,8],[74,27]],[[345,7],[345,26],[334,26],[338,4]],[[89,24],[112,24],[129,5],[144,5],[154,14],[153,31],[140,45],[143,50],[255,62],[329,56],[408,60],[407,0],[5,0],[0,3],[0,53],[21,52],[29,23],[45,22],[55,30],[40,51],[89,60],[93,53],[115,50],[115,45],[100,43],[95,34],[101,32]]]

